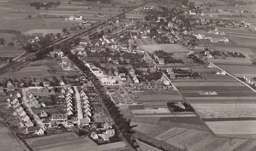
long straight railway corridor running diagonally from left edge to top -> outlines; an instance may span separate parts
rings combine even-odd
[[[122,15],[124,15],[125,13],[131,12],[132,10],[137,9],[137,8],[139,8],[139,7],[141,7],[141,6],[145,5],[145,4],[147,4],[147,2],[146,2],[146,3],[143,3],[143,4],[141,4],[141,5],[138,5],[138,6],[134,7],[134,8],[132,8],[132,9],[129,9],[129,10],[127,10],[127,11],[124,11],[124,12],[122,12],[122,13],[120,13],[120,14],[114,15],[114,16],[108,18],[108,19],[105,19],[105,20],[101,21],[100,23],[97,23],[96,25],[94,25],[94,26],[92,26],[92,27],[90,27],[90,28],[84,29],[84,30],[82,30],[81,32],[79,32],[79,33],[77,33],[77,34],[70,35],[69,37],[67,37],[67,38],[65,38],[65,39],[61,39],[61,40],[58,40],[58,41],[54,41],[54,42],[52,42],[51,44],[48,44],[48,45],[46,45],[46,46],[44,46],[44,47],[41,47],[41,48],[37,49],[36,52],[31,53],[31,54],[28,54],[23,60],[18,60],[18,58],[16,57],[15,60],[13,60],[12,62],[8,63],[6,66],[0,68],[0,74],[3,74],[3,73],[5,73],[5,72],[8,72],[8,71],[10,71],[12,68],[14,68],[14,67],[18,66],[19,64],[21,64],[23,61],[29,60],[29,59],[35,57],[35,54],[36,54],[39,50],[41,50],[41,49],[47,48],[47,47],[52,46],[52,45],[61,44],[61,43],[63,43],[63,42],[66,42],[66,41],[68,41],[68,40],[71,40],[71,39],[73,39],[73,38],[76,38],[76,37],[78,37],[78,36],[80,36],[80,35],[82,35],[82,34],[84,34],[84,33],[87,33],[87,34],[88,34],[89,31],[91,31],[91,30],[93,30],[93,29],[95,29],[95,28],[97,28],[97,27],[99,27],[99,26],[101,26],[101,25],[107,23],[108,21],[114,19],[115,17],[122,16]]]

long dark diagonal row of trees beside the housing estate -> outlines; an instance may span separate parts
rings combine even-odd
[[[118,130],[121,132],[121,136],[129,142],[132,146],[134,146],[135,140],[131,139],[132,132],[131,132],[131,119],[125,119],[118,111],[118,107],[116,107],[115,103],[111,100],[110,96],[106,94],[103,85],[101,84],[100,80],[90,71],[90,69],[84,65],[84,63],[74,54],[70,52],[69,43],[66,42],[61,51],[64,55],[67,55],[70,60],[81,70],[83,71],[89,79],[94,83],[96,91],[100,96],[102,103],[106,107],[106,110],[109,112],[111,118],[114,120]]]

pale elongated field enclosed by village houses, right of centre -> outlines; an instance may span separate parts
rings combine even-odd
[[[185,49],[184,47],[178,44],[143,45],[143,46],[140,46],[139,49],[145,50],[146,52],[152,52],[155,50],[164,50],[166,52],[173,52],[173,53],[188,52],[187,49]]]

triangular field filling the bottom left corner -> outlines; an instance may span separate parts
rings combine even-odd
[[[11,133],[9,128],[0,121],[0,145],[3,151],[24,151],[28,150],[25,145],[18,141]]]

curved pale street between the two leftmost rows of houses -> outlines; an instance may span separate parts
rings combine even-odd
[[[23,101],[24,104],[27,106],[27,110],[30,112],[31,115],[33,115],[36,123],[42,128],[42,130],[46,131],[46,126],[45,124],[41,121],[41,119],[37,116],[37,114],[35,114],[32,109],[31,109],[31,105],[27,100],[27,95],[26,95],[26,91],[28,91],[28,89],[22,89],[22,94],[23,94]]]

